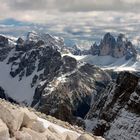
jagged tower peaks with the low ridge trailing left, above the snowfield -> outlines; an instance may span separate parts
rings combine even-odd
[[[89,50],[79,51],[75,47],[75,51],[71,51],[76,55],[99,55],[106,56],[110,55],[114,58],[125,57],[126,60],[133,58],[136,59],[137,52],[134,45],[125,37],[124,34],[119,34],[115,38],[110,33],[106,33],[99,44],[93,44]]]

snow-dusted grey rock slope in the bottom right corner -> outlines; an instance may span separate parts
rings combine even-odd
[[[123,109],[105,134],[107,139],[139,140],[140,117]]]

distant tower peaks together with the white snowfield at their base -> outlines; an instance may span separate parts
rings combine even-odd
[[[105,34],[99,45],[96,43],[89,50],[80,50],[77,46],[66,54],[78,61],[96,65],[104,70],[139,71],[139,51],[123,34],[113,37]],[[65,55],[65,54],[63,54]]]

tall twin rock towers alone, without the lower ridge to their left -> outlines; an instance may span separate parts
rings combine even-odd
[[[115,39],[110,33],[107,33],[99,45],[99,55],[110,55],[115,58],[125,56],[125,59],[128,60],[135,59],[137,53],[132,43],[123,34],[119,34],[118,38]]]

